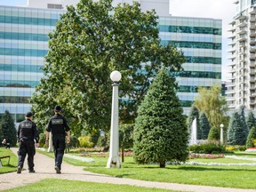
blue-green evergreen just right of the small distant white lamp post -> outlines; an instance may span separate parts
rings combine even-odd
[[[228,124],[228,144],[229,145],[245,145],[246,131],[241,121],[241,116],[235,112]]]

